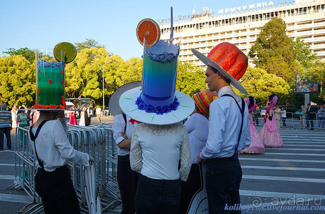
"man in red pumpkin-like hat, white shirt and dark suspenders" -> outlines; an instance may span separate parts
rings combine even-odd
[[[192,52],[208,65],[205,82],[219,97],[210,104],[209,135],[197,157],[198,163],[203,159],[207,162],[209,213],[241,213],[239,209],[230,210],[229,206],[240,204],[242,170],[237,153],[249,147],[251,141],[249,115],[246,103],[230,84],[247,95],[237,80],[244,75],[248,59],[230,43],[219,44],[208,57],[194,49]]]

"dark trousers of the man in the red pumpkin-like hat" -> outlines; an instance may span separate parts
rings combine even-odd
[[[241,213],[240,210],[227,210],[230,205],[239,206],[239,186],[242,180],[242,169],[239,160],[208,159],[206,172],[206,188],[210,214]],[[227,160],[224,161],[223,160]]]

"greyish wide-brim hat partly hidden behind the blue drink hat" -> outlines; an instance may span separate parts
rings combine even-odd
[[[123,114],[123,111],[120,108],[120,104],[119,104],[119,99],[120,99],[121,95],[125,91],[128,91],[133,88],[138,88],[140,86],[140,84],[141,84],[141,81],[127,83],[125,85],[120,86],[118,89],[116,89],[114,91],[114,93],[110,97],[110,101],[108,103],[108,109],[113,116],[118,115],[118,114]]]

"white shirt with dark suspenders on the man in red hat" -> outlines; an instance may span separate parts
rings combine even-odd
[[[219,98],[210,104],[209,135],[207,144],[200,154],[202,159],[231,157],[235,152],[242,116],[235,100],[228,96],[221,97],[223,94],[232,95],[240,108],[242,105],[241,97],[231,86],[219,90]],[[245,103],[243,130],[237,151],[249,147],[250,141],[248,106]]]

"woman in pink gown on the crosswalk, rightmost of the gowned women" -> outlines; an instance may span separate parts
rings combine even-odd
[[[282,138],[276,124],[276,118],[273,106],[278,101],[278,97],[275,94],[270,95],[268,108],[266,110],[266,123],[264,124],[261,132],[259,132],[259,138],[261,138],[265,148],[282,148]]]

